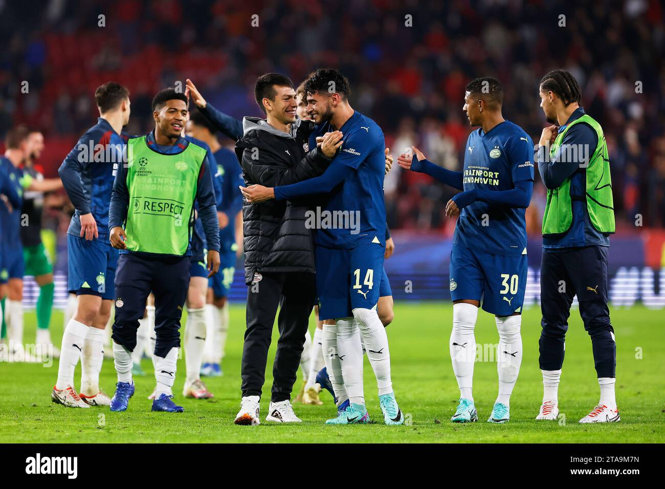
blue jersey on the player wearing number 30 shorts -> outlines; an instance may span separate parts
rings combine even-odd
[[[471,134],[464,152],[464,190],[511,190],[514,182],[533,180],[533,141],[507,120],[489,132]],[[462,209],[453,243],[495,255],[526,253],[525,209],[476,201]]]

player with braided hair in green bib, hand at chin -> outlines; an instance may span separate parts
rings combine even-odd
[[[565,335],[577,295],[600,385],[598,405],[580,422],[615,422],[620,419],[614,399],[616,344],[607,306],[607,253],[614,232],[612,180],[602,128],[585,113],[580,93],[567,71],[551,71],[540,83],[541,107],[553,125],[543,129],[538,147],[547,206],[539,342],[544,392],[536,419],[555,420],[559,414]]]

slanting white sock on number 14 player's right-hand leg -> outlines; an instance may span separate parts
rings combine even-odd
[[[388,335],[386,328],[378,318],[376,309],[353,309],[356,318],[362,345],[367,350],[367,359],[374,370],[378,395],[392,393],[392,380],[390,379],[390,349],[388,348]],[[358,345],[360,347],[360,345]],[[362,355],[362,347],[360,347]]]

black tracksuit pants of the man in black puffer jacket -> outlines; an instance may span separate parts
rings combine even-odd
[[[260,396],[265,381],[273,324],[281,305],[277,327],[279,341],[273,364],[271,401],[291,399],[305,332],[315,301],[314,273],[262,273],[261,281],[247,288],[247,330],[243,344],[242,393]]]

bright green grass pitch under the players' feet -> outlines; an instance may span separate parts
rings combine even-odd
[[[239,408],[240,357],[245,329],[244,305],[231,309],[231,327],[224,377],[205,379],[215,398],[209,401],[182,397],[185,364],[178,364],[174,393],[185,407],[182,414],[150,412],[146,397],[154,387],[152,363],[145,359],[146,377],[138,377],[136,394],[126,412],[108,408],[71,409],[51,403],[51,388],[57,377],[57,363],[51,367],[27,363],[0,364],[0,442],[664,442],[665,441],[665,313],[643,307],[613,309],[612,323],[617,341],[616,396],[621,421],[604,425],[580,425],[577,421],[597,403],[599,387],[593,368],[591,340],[583,329],[579,313],[573,310],[566,343],[559,404],[565,420],[535,421],[541,402],[541,374],[538,369],[538,308],[525,312],[524,357],[511,401],[508,424],[486,422],[497,391],[496,363],[475,365],[474,397],[479,420],[473,424],[450,422],[458,401],[452,374],[448,337],[451,329],[450,303],[404,303],[395,308],[395,321],[388,327],[392,379],[408,426],[384,426],[372,371],[365,361],[366,401],[376,424],[326,426],[334,414],[328,393],[322,406],[296,405],[303,418],[298,425],[265,422],[271,383],[271,347],[267,385],[261,400],[261,426],[235,426]],[[53,317],[53,334],[58,345],[62,315]],[[35,316],[25,319],[25,341],[35,334]],[[276,328],[275,328],[276,329]],[[481,311],[476,327],[477,343],[497,343],[494,319]],[[79,387],[80,367],[76,369]],[[102,389],[114,392],[115,371],[104,360]],[[297,381],[297,388],[301,379]],[[293,396],[295,397],[295,395]]]

